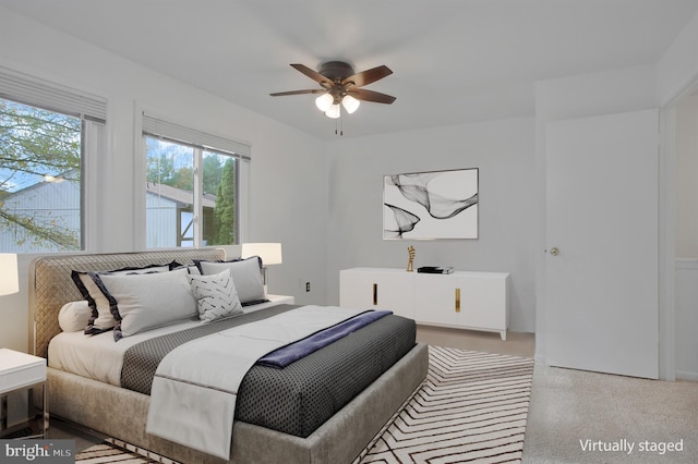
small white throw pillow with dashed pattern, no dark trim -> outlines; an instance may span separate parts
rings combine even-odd
[[[213,276],[186,276],[198,305],[198,318],[210,322],[242,314],[230,269]]]

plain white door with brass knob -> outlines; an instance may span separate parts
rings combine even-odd
[[[658,119],[546,125],[550,365],[658,377]]]

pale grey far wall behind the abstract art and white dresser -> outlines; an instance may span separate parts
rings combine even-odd
[[[509,329],[532,332],[535,320],[533,119],[510,119],[383,134],[330,146],[328,303],[339,302],[339,270],[414,267],[512,273]],[[479,239],[384,241],[383,176],[479,168]]]

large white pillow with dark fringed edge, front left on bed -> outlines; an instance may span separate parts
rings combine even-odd
[[[115,340],[195,317],[186,269],[137,276],[93,274],[117,320]]]

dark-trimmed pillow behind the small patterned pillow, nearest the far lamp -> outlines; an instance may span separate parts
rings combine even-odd
[[[230,269],[230,277],[232,277],[232,283],[236,285],[242,306],[266,301],[262,282],[262,264],[257,256],[220,262],[196,261],[196,266],[198,266],[202,276],[210,276]]]

